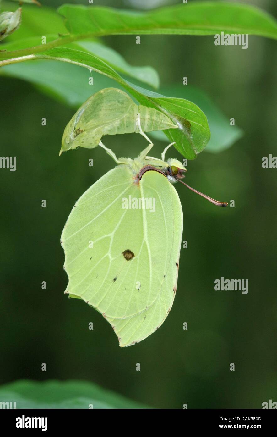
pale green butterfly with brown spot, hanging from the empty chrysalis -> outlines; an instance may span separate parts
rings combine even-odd
[[[148,139],[140,114],[137,121],[138,132]],[[65,293],[101,312],[124,347],[153,333],[171,309],[183,229],[171,182],[181,181],[186,169],[178,160],[165,161],[171,144],[161,160],[147,156],[151,142],[134,160],[117,159],[101,141],[99,146],[117,166],[85,191],[65,224]]]

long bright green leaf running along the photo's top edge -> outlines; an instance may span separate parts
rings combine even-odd
[[[214,35],[226,33],[277,38],[273,17],[256,7],[221,1],[182,3],[150,12],[65,4],[58,12],[73,35]]]

